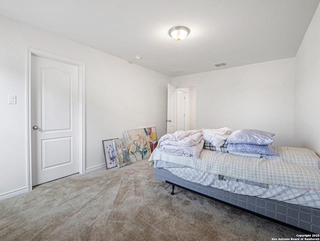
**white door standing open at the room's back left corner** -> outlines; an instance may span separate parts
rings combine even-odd
[[[176,88],[168,84],[168,99],[167,99],[167,118],[166,132],[174,133],[176,130]]]

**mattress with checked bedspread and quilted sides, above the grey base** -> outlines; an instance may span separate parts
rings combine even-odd
[[[182,179],[231,193],[320,208],[320,169],[315,153],[297,147],[275,150],[278,156],[257,158],[203,149],[195,158],[155,148],[148,163]]]

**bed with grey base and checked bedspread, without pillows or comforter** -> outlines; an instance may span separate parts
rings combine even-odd
[[[203,148],[197,157],[155,148],[148,163],[154,178],[172,185],[171,194],[178,186],[306,233],[320,233],[319,157],[307,148],[272,148],[276,156],[261,157],[225,148]]]

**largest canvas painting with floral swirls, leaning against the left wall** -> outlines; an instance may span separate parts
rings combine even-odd
[[[143,128],[125,130],[124,136],[131,162],[150,156],[149,137]]]

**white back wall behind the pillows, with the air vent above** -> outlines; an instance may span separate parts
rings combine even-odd
[[[196,84],[197,128],[253,128],[293,145],[294,58],[173,77]]]

